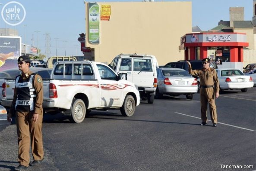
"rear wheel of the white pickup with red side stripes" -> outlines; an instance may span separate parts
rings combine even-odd
[[[72,105],[72,120],[81,123],[85,119],[86,107],[81,99],[76,99]]]

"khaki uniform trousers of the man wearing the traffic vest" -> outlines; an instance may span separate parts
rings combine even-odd
[[[39,116],[37,122],[32,121],[33,114],[34,111],[16,112],[16,126],[19,145],[18,162],[20,165],[24,166],[29,165],[30,140],[34,160],[41,160],[44,158],[42,137],[43,111],[38,113]]]

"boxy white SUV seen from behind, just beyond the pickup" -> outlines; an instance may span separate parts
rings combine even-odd
[[[109,66],[138,86],[140,98],[152,104],[157,87],[158,62],[153,55],[120,54]]]

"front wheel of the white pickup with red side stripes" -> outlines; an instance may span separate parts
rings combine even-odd
[[[120,108],[121,113],[123,116],[133,116],[133,113],[135,111],[135,100],[133,96],[131,95],[126,95],[124,101],[123,101],[123,106]]]

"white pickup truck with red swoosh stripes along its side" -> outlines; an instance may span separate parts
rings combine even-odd
[[[43,108],[72,116],[76,123],[85,119],[86,110],[94,109],[120,109],[123,116],[133,116],[140,102],[139,91],[133,82],[120,77],[100,62],[56,62],[51,79],[43,80]]]

